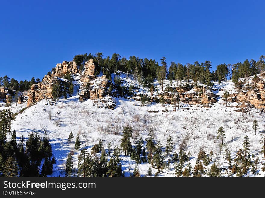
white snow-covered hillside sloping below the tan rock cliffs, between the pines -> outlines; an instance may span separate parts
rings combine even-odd
[[[127,77],[126,74],[120,76],[124,80],[123,85],[138,86],[134,82],[133,76]],[[78,77],[75,78],[78,80]],[[114,76],[113,79],[114,80]],[[125,82],[126,80],[126,82]],[[76,81],[77,84],[78,81]],[[114,82],[113,82],[114,83]],[[136,83],[136,84],[135,84]],[[169,84],[165,82],[164,86]],[[174,84],[176,82],[173,82]],[[161,92],[161,87],[158,82],[158,92]],[[228,175],[228,163],[223,156],[220,155],[220,150],[217,140],[217,130],[220,126],[226,131],[225,142],[228,144],[232,158],[236,152],[243,148],[242,143],[247,135],[250,139],[250,154],[258,155],[260,162],[258,164],[258,174],[253,174],[250,170],[246,176],[264,177],[265,172],[261,171],[261,163],[265,163],[260,153],[262,145],[259,143],[260,136],[255,135],[251,128],[253,120],[257,120],[260,126],[259,130],[263,130],[265,114],[256,108],[249,108],[246,113],[237,111],[237,103],[229,103],[228,107],[225,101],[219,98],[211,108],[204,108],[200,105],[180,104],[176,112],[173,110],[173,105],[157,104],[155,102],[148,103],[145,106],[140,106],[141,102],[133,99],[113,98],[117,103],[114,110],[108,108],[97,108],[94,102],[90,99],[85,102],[78,100],[78,86],[72,97],[67,100],[59,99],[55,105],[50,105],[48,100],[42,100],[36,105],[30,106],[16,116],[13,122],[12,130],[16,130],[18,141],[22,137],[28,137],[30,132],[39,132],[41,136],[46,131],[50,143],[52,145],[53,156],[55,156],[56,164],[54,165],[54,173],[51,176],[64,176],[64,164],[68,153],[73,149],[73,143],[68,142],[68,136],[72,131],[74,136],[80,133],[82,141],[81,149],[87,148],[91,152],[91,148],[99,140],[103,140],[104,148],[107,148],[108,142],[113,146],[120,145],[121,131],[123,126],[129,125],[133,127],[134,132],[139,132],[140,136],[145,140],[150,128],[155,131],[155,140],[161,143],[165,149],[167,137],[170,134],[173,137],[174,151],[179,152],[179,147],[184,146],[185,151],[189,156],[190,163],[194,167],[198,152],[203,149],[207,154],[212,150],[214,158],[220,157],[220,165],[223,168],[223,176]],[[231,80],[222,83],[214,83],[213,86],[216,95],[222,96],[223,91],[228,90],[229,93],[235,93],[234,83]],[[138,93],[148,93],[148,90],[141,87],[137,90]],[[137,105],[139,104],[139,105]],[[12,104],[12,112],[18,112],[26,107],[26,103]],[[0,110],[7,107],[0,107]],[[158,111],[149,113],[148,111]],[[49,119],[51,115],[51,120]],[[113,131],[112,133],[107,133]],[[115,134],[114,131],[118,131]],[[10,138],[10,136],[9,136]],[[132,141],[133,142],[133,141]],[[145,142],[146,143],[146,142]],[[77,159],[80,152],[75,151],[73,155],[74,168],[77,168]],[[97,154],[100,156],[100,153]],[[130,159],[129,156],[122,157],[122,169],[125,171],[125,176],[129,176],[133,172],[136,162]],[[251,158],[251,160],[254,160]],[[207,169],[213,164],[214,160],[204,169],[207,176]],[[184,165],[186,166],[188,162]],[[139,165],[141,176],[147,175],[149,168],[148,163]],[[184,167],[185,168],[185,167]],[[183,169],[184,169],[183,168]],[[157,172],[152,169],[153,174]],[[174,165],[165,173],[158,176],[175,176]],[[236,176],[233,174],[233,176]]]

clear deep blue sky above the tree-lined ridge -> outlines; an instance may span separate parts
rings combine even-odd
[[[42,77],[76,54],[186,64],[265,55],[265,1],[1,1],[0,76]]]

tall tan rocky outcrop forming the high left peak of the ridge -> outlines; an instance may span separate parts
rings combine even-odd
[[[27,105],[32,105],[34,102],[39,102],[42,99],[51,99],[52,95],[52,85],[54,83],[68,83],[62,81],[58,77],[63,77],[65,74],[77,74],[78,68],[75,61],[63,61],[62,63],[58,63],[56,67],[53,69],[51,74],[47,74],[44,76],[42,82],[37,85],[33,84],[31,89],[28,91],[28,102]],[[105,89],[108,84],[108,79],[106,76],[98,77],[95,80],[95,64],[93,63],[93,59],[89,59],[85,63],[85,71],[81,76],[81,91],[80,91],[80,101],[84,99],[103,99],[105,96]],[[93,81],[94,83],[92,83]],[[87,83],[91,83],[89,87],[86,87]],[[70,82],[69,82],[70,83]],[[63,86],[63,85],[62,85]],[[69,85],[67,85],[69,87]]]

